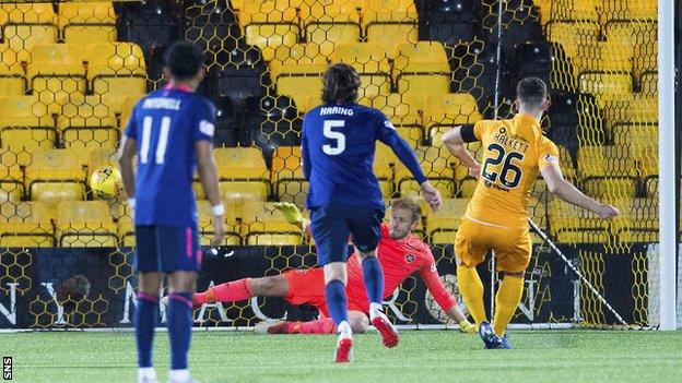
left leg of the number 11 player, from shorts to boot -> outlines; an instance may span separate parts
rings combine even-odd
[[[134,268],[138,272],[138,306],[134,313],[138,348],[138,382],[156,382],[152,362],[154,328],[158,322],[158,291],[162,274],[156,254],[156,234],[153,227],[136,227],[137,251]]]

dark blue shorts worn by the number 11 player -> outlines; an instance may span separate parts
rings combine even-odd
[[[136,226],[136,271],[139,273],[201,270],[197,227]]]

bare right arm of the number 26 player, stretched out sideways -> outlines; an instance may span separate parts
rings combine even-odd
[[[609,204],[600,203],[585,195],[571,182],[566,181],[556,161],[545,164],[540,168],[540,172],[550,192],[569,204],[587,208],[604,219],[611,219],[621,213]]]

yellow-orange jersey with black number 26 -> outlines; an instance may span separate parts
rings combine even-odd
[[[528,201],[540,168],[558,164],[556,145],[540,121],[518,113],[508,120],[483,120],[473,127],[481,141],[481,177],[467,216],[502,226],[527,225]]]

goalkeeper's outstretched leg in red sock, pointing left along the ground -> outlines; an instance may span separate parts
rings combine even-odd
[[[238,302],[251,297],[283,297],[289,292],[289,280],[282,275],[262,278],[243,278],[209,287],[195,294],[192,303]]]

